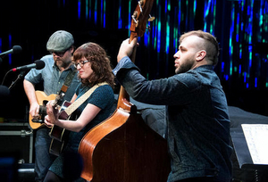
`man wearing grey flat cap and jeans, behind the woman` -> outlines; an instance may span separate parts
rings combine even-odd
[[[74,95],[75,89],[79,84],[77,71],[71,62],[71,56],[74,52],[73,44],[74,40],[71,33],[64,30],[54,32],[46,44],[46,49],[50,54],[41,58],[46,64],[45,68],[42,70],[32,69],[25,76],[23,87],[29,99],[29,114],[33,119],[40,119],[40,106],[35,90],[35,86],[39,83],[43,83],[46,95],[59,95],[63,92],[64,97],[62,101],[71,101],[71,97]],[[66,79],[70,81],[67,82],[65,81]],[[63,85],[68,87],[67,91],[63,90]],[[62,103],[58,104],[61,105]],[[38,120],[38,122],[42,121]],[[43,181],[48,168],[56,156],[49,153],[51,137],[48,133],[51,128],[47,128],[46,125],[42,124],[41,127],[34,129],[36,131],[36,181]]]

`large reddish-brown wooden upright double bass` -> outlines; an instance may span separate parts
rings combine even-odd
[[[140,0],[132,15],[130,42],[142,37],[154,0]],[[131,61],[134,62],[135,54]],[[167,143],[149,128],[121,87],[113,115],[80,141],[81,178],[91,182],[164,182],[170,172]]]

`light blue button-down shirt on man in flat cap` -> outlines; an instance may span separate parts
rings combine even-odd
[[[72,70],[75,70],[74,66],[71,65],[68,69],[61,72],[54,64],[52,55],[46,55],[42,57],[41,60],[45,62],[45,68],[41,70],[31,69],[24,79],[28,80],[33,85],[43,81],[44,92],[46,95],[59,94],[68,73]],[[76,73],[73,76],[70,87],[67,89],[67,92],[64,95],[63,101],[71,101],[71,98],[74,95],[75,89],[79,83],[80,81]]]

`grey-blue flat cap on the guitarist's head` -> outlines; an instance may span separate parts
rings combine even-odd
[[[70,48],[73,43],[74,40],[71,33],[64,30],[58,30],[49,37],[46,43],[46,49],[47,51],[63,52]]]

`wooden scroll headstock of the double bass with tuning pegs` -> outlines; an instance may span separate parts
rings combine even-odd
[[[147,21],[154,21],[155,18],[151,17],[150,12],[154,0],[139,0],[135,11],[132,14],[132,21],[130,26],[130,41],[134,37],[143,37],[147,29]]]

